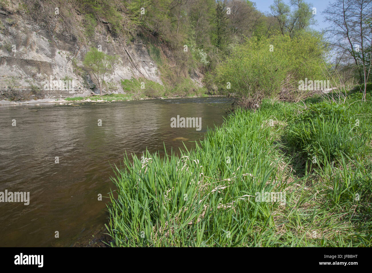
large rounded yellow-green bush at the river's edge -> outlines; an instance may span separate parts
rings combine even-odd
[[[321,35],[310,32],[292,39],[283,35],[253,37],[235,47],[231,57],[216,68],[219,90],[251,105],[276,97],[283,89],[298,93],[299,80],[324,78],[322,41]]]

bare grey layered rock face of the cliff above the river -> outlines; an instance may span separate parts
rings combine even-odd
[[[58,15],[51,15],[48,22],[36,22],[13,3],[0,9],[0,100],[86,96],[92,90],[99,93],[93,75],[82,63],[90,47],[102,48],[119,59],[105,77],[110,90],[106,93],[125,93],[121,80],[131,77],[162,84],[144,45],[114,39],[105,22],[97,25],[88,42],[79,42],[64,30]]]

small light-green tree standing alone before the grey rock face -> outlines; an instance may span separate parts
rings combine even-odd
[[[102,84],[105,75],[112,69],[112,63],[115,60],[115,56],[107,55],[94,47],[90,48],[90,51],[85,55],[83,64],[87,69],[92,71],[94,78],[96,78],[100,95],[102,95]]]

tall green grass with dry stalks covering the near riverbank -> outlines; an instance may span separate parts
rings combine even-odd
[[[126,156],[112,178],[110,245],[370,247],[371,136],[363,136],[364,152],[340,150],[332,161],[325,153],[323,164],[309,171],[296,156],[305,144],[290,146],[288,136],[311,102],[305,106],[266,100],[256,112],[235,111],[180,156]],[[352,140],[341,134],[341,142],[357,145],[363,130],[372,129],[371,102],[350,98],[344,107],[347,117],[360,117],[360,127]],[[311,120],[326,132],[344,132],[328,110]],[[309,143],[333,145],[319,141],[323,134],[315,128]],[[286,204],[256,201],[261,191],[285,192]]]

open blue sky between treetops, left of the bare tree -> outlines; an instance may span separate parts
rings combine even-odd
[[[270,12],[270,5],[273,4],[273,0],[251,0],[252,2],[256,2],[257,9],[262,12]],[[284,0],[286,4],[289,4],[289,0]],[[306,0],[308,3],[312,3],[312,7],[315,7],[317,9],[317,14],[315,15],[315,19],[317,20],[316,26],[312,26],[312,28],[317,29],[318,31],[321,31],[322,28],[325,28],[328,26],[327,23],[324,23],[324,16],[322,14],[325,7],[328,6],[329,0]]]

